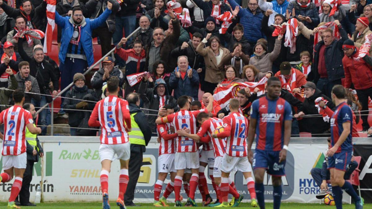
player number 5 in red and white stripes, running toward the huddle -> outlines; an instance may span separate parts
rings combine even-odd
[[[124,194],[128,185],[128,163],[131,157],[131,149],[128,132],[131,131],[131,117],[129,115],[128,102],[118,97],[119,78],[110,77],[107,82],[107,97],[97,102],[89,118],[88,125],[101,126],[101,145],[99,146],[99,158],[101,160],[101,188],[103,194],[103,209],[109,209],[109,173],[111,163],[115,159],[120,160],[119,197],[116,205],[125,208]],[[124,123],[125,122],[125,123]],[[114,157],[114,155],[117,157]]]

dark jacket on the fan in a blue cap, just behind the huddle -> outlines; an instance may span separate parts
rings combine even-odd
[[[165,95],[166,100],[164,105],[170,105],[173,107],[174,112],[178,111],[178,105],[177,100],[174,99],[173,96],[171,96],[168,92],[168,87],[166,86]],[[141,99],[144,101],[144,108],[150,109],[150,110],[144,110],[145,114],[152,114],[147,116],[148,124],[151,128],[151,132],[156,132],[156,124],[155,120],[157,119],[157,114],[159,111],[159,99],[160,97],[157,94],[156,87],[154,88],[148,88],[148,82],[142,80],[140,83],[140,87],[138,89],[138,93],[141,94]]]

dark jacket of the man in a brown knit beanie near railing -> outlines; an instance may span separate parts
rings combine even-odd
[[[80,121],[84,118],[85,111],[69,110],[76,109],[76,104],[81,102],[76,99],[83,99],[86,94],[93,94],[92,89],[88,89],[87,86],[77,88],[73,86],[70,91],[67,91],[66,98],[63,100],[62,108],[68,113],[68,125],[71,127],[78,127]],[[73,99],[69,99],[73,98]],[[93,107],[94,108],[94,107]]]

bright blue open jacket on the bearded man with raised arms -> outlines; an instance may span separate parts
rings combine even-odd
[[[99,17],[96,19],[89,19],[85,18],[85,23],[81,25],[81,32],[80,32],[80,41],[83,47],[84,53],[87,57],[88,65],[94,64],[93,58],[93,45],[92,45],[92,30],[98,28],[103,23],[105,23],[106,19],[111,14],[111,10],[106,9]],[[55,12],[55,23],[62,28],[62,36],[61,36],[61,48],[60,54],[58,58],[60,59],[60,63],[65,62],[68,44],[72,38],[74,33],[74,26],[70,22],[69,16],[62,17],[58,12]],[[72,19],[71,19],[72,21]]]

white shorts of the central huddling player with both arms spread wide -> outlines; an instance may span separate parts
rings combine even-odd
[[[174,168],[176,168],[176,170],[199,168],[199,151],[176,152],[176,155],[174,156]]]

